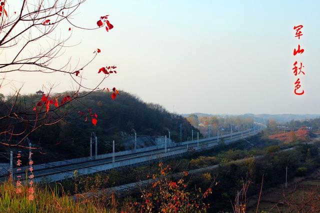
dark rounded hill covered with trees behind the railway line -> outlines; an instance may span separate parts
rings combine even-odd
[[[24,104],[23,107],[31,112],[31,105],[41,97],[35,94],[20,95],[18,102],[19,105]],[[5,98],[2,96],[2,101],[13,101]],[[123,150],[123,141],[132,135],[132,128],[137,135],[149,136],[167,135],[169,129],[171,139],[176,142],[180,140],[180,123],[182,140],[191,135],[191,129],[196,131],[184,117],[168,112],[159,104],[146,103],[139,97],[123,91],[120,91],[114,100],[105,91],[95,91],[63,106],[61,110],[65,111],[62,120],[54,125],[44,125],[28,136],[32,144],[40,147],[41,152],[54,152],[60,157],[87,156],[91,132],[98,137],[100,154],[112,151],[108,142],[111,140],[115,140],[116,151]],[[91,122],[92,115],[96,115],[95,125]],[[20,128],[23,131],[24,125]],[[6,137],[3,138],[5,140],[20,139],[16,138],[18,136],[10,137],[9,134],[2,137]]]

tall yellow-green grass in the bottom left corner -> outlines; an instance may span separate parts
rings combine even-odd
[[[62,193],[58,196],[59,190],[63,190],[56,185],[55,188],[39,188],[34,185],[34,199],[28,199],[27,187],[21,187],[22,192],[16,193],[15,186],[11,182],[0,184],[0,212],[116,212],[104,208],[98,200],[85,198],[80,201],[72,200]]]

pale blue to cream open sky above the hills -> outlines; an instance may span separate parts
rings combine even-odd
[[[73,63],[83,62],[100,48],[84,70],[86,85],[101,78],[98,68],[116,65],[118,73],[101,87],[115,86],[176,113],[320,113],[319,4],[314,0],[89,0],[74,15],[74,23],[95,27],[101,15],[109,14],[114,28],[106,32],[72,27],[68,42],[79,44],[55,63],[69,56]],[[299,24],[303,35],[297,39],[293,26]],[[70,33],[67,23],[61,27]],[[293,56],[298,44],[304,52]],[[293,92],[295,60],[304,65],[303,95]],[[49,83],[57,85],[56,92],[74,87],[60,73],[15,72],[7,77],[24,83],[22,93]],[[8,87],[0,89],[8,92]]]

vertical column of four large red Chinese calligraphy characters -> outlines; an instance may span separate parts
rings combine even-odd
[[[295,30],[295,37],[297,37],[298,39],[300,39],[300,36],[303,35],[301,31],[302,27],[303,25],[293,26],[293,29]],[[293,56],[296,56],[296,54],[301,55],[303,52],[304,52],[304,49],[300,47],[300,44],[298,44],[298,47],[293,49]],[[304,67],[302,65],[302,62],[298,62],[295,60],[292,67],[293,74],[295,76],[305,75],[304,71],[302,70],[302,67]],[[301,88],[300,83],[301,83],[300,78],[297,77],[296,81],[294,82],[294,94],[296,95],[304,94],[304,90]]]

